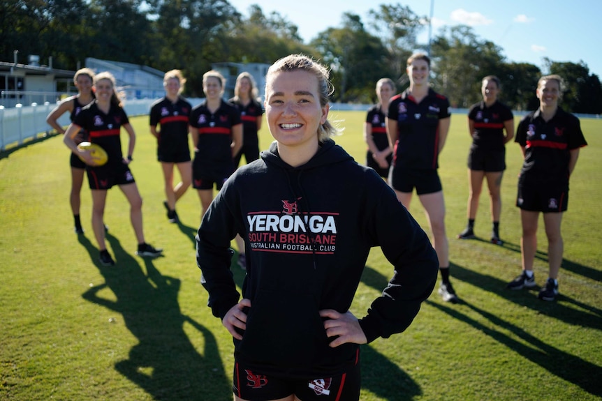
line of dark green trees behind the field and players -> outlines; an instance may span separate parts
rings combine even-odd
[[[279,13],[265,15],[258,4],[244,17],[227,0],[1,0],[0,60],[13,51],[52,56],[53,67],[75,70],[86,57],[124,61],[158,70],[179,68],[188,82],[186,96],[203,96],[202,76],[211,63],[271,64],[291,53],[309,54],[330,66],[340,103],[374,103],[374,85],[391,77],[398,91],[408,77],[405,62],[425,49],[418,33],[427,17],[400,3],[369,10],[369,21],[342,14],[338,27],[304,43],[298,27]],[[479,38],[470,27],[447,27],[430,44],[432,82],[454,107],[480,100],[480,81],[497,75],[500,98],[513,109],[538,105],[535,86],[543,74],[561,75],[563,105],[575,113],[602,112],[602,85],[584,61],[545,59],[545,71],[506,60],[503,49]]]

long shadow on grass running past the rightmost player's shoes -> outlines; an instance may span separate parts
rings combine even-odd
[[[571,297],[564,296],[562,293],[560,293],[558,297],[558,301],[560,302],[541,301],[537,298],[538,287],[534,287],[531,291],[527,289],[512,291],[506,289],[506,281],[499,280],[490,275],[471,271],[453,263],[450,264],[450,268],[450,273],[453,277],[465,282],[470,282],[472,285],[485,291],[498,294],[499,296],[508,299],[508,301],[537,310],[542,315],[555,317],[568,324],[573,324],[574,326],[591,327],[602,331],[602,310],[593,305],[587,305]],[[562,301],[572,303],[582,310],[587,310],[589,313],[569,308],[564,305]],[[596,315],[596,317],[592,316],[592,314]]]

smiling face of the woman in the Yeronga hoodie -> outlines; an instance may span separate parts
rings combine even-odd
[[[329,109],[320,105],[316,76],[304,70],[268,75],[264,105],[267,125],[279,150],[313,150],[313,156],[318,148],[318,130]]]

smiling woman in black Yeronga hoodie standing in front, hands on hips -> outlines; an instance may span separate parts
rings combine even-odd
[[[359,345],[404,331],[430,296],[430,241],[374,170],[330,136],[328,70],[291,55],[267,71],[276,139],[228,179],[203,218],[197,263],[235,345],[235,400],[358,400]],[[242,299],[230,241],[245,241]],[[365,317],[349,308],[369,250],[395,270]]]

